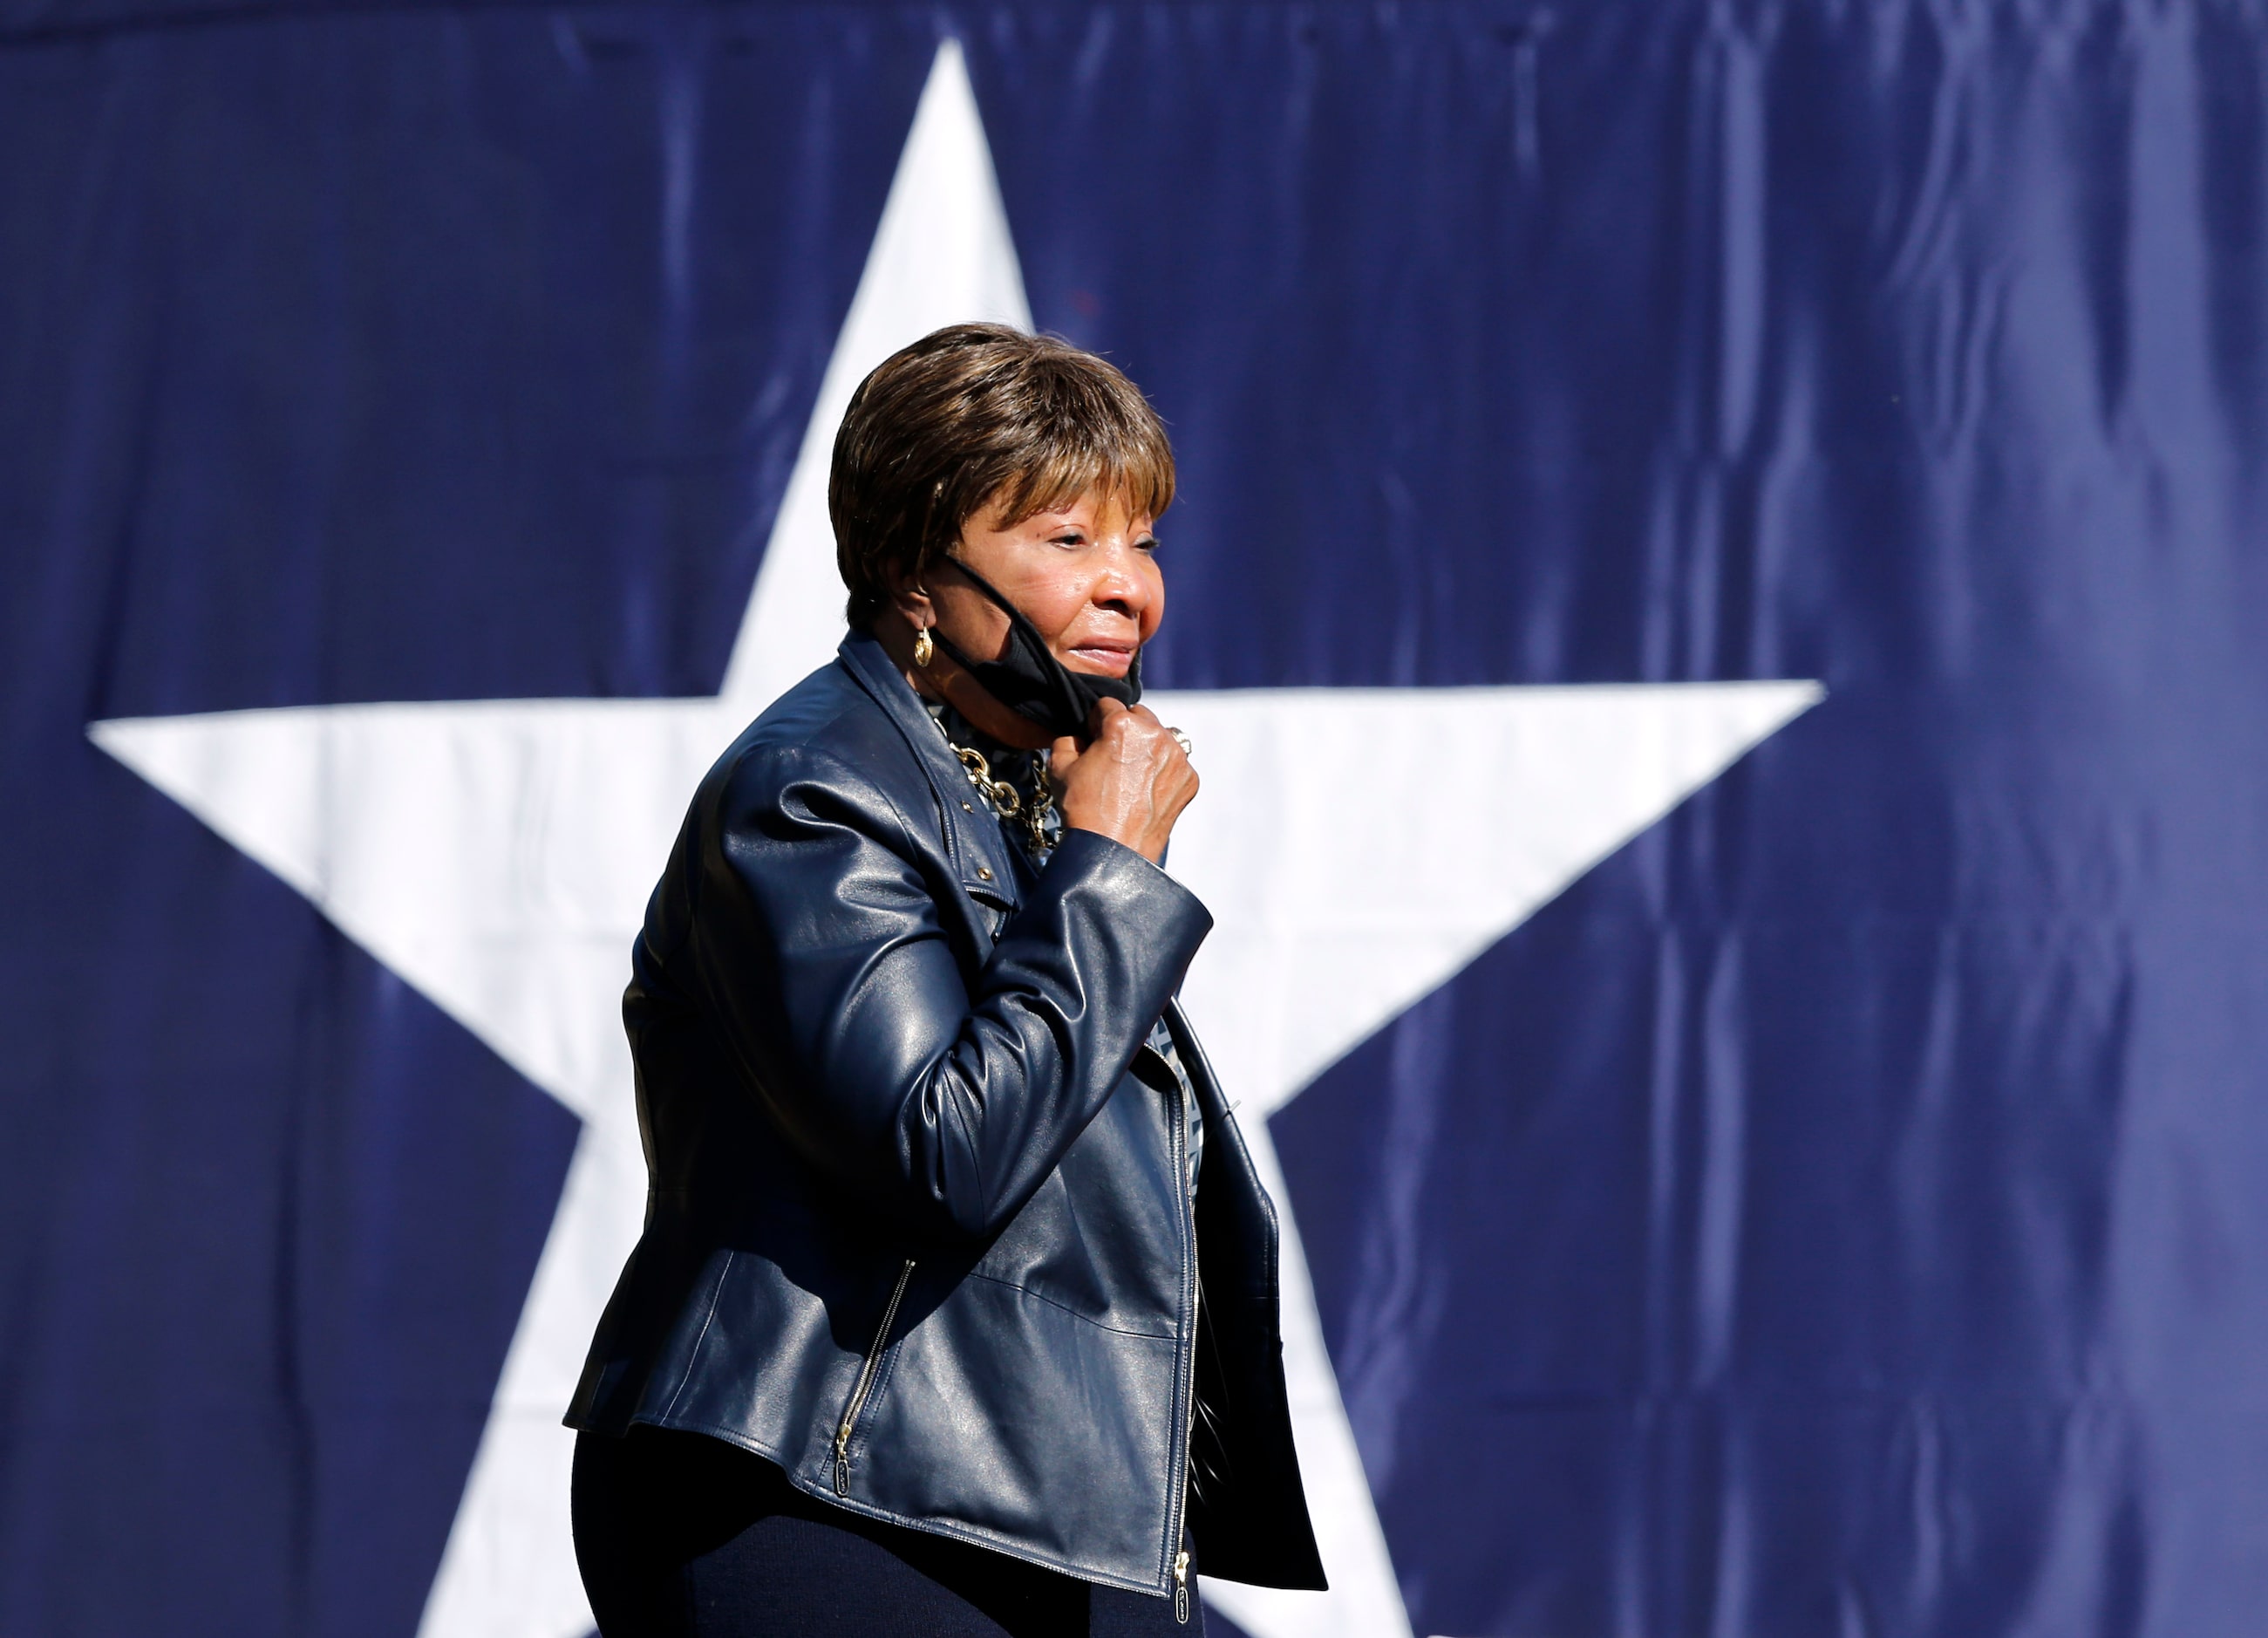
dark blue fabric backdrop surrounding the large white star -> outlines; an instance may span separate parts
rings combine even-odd
[[[1415,1629],[2259,1633],[2236,0],[0,0],[0,1631],[411,1633],[574,1141],[86,724],[714,692],[941,34],[1157,683],[1830,690],[1275,1123]]]

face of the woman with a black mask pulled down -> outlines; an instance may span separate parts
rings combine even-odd
[[[1068,669],[1125,676],[1166,615],[1154,549],[1148,517],[1089,490],[1059,510],[1007,526],[996,510],[982,510],[953,556],[1021,608]],[[1007,651],[1007,615],[991,599],[950,567],[928,581],[937,628],[955,647],[978,658]]]

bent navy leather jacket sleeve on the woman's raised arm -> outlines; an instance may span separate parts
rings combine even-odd
[[[930,1234],[989,1236],[1032,1198],[1211,930],[1145,858],[1066,830],[971,987],[937,910],[957,878],[857,769],[760,751],[708,819],[703,1012],[812,1164]]]

